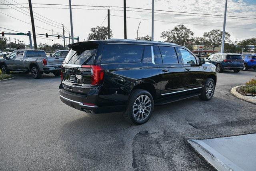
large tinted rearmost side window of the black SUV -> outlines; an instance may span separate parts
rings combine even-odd
[[[141,62],[144,46],[130,44],[106,44],[102,64]]]

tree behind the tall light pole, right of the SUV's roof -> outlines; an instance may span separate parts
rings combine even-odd
[[[216,47],[219,47],[222,42],[222,31],[221,30],[212,30],[210,32],[205,32],[203,35],[206,40],[205,46],[212,48],[213,53]],[[225,41],[230,42],[230,34],[225,32]]]

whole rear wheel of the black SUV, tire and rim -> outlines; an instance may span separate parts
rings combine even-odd
[[[140,103],[140,99],[142,99],[141,101],[143,103]],[[134,108],[136,109],[133,110]],[[135,89],[130,94],[127,107],[123,112],[123,116],[126,119],[126,121],[140,125],[148,121],[148,119],[153,113],[153,110],[154,99],[152,95],[144,89]]]

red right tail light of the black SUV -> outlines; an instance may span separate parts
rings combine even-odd
[[[104,79],[104,71],[102,70],[101,66],[98,65],[82,65],[82,68],[90,68],[91,70],[91,84],[98,85],[102,84]]]

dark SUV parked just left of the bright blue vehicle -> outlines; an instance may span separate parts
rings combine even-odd
[[[214,64],[217,72],[223,70],[234,70],[234,72],[240,72],[244,66],[244,60],[240,54],[212,54],[206,58],[206,62]]]

